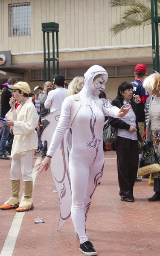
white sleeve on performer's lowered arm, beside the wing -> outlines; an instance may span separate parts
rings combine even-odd
[[[60,145],[64,137],[64,134],[67,131],[68,123],[70,121],[70,111],[73,104],[73,100],[73,97],[69,96],[66,99],[64,99],[64,102],[62,103],[59,122],[57,127],[55,128],[55,132],[52,136],[52,140],[47,151],[47,155],[49,156],[53,156],[55,154],[55,151],[57,150],[58,146]]]

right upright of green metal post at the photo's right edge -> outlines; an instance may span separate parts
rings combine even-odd
[[[157,0],[154,0],[155,17],[158,17],[158,4]],[[158,20],[155,22],[155,35],[156,35],[156,71],[160,73],[160,51],[159,51],[159,31]]]

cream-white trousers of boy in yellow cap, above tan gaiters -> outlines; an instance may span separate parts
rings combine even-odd
[[[28,150],[26,154],[14,154],[11,163],[11,180],[20,180],[20,173],[24,181],[32,180],[32,161],[35,150]]]

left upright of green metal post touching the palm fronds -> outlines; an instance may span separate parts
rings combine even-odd
[[[151,0],[151,32],[152,32],[152,58],[153,72],[156,71],[156,45],[155,45],[155,28],[154,28],[154,0]]]

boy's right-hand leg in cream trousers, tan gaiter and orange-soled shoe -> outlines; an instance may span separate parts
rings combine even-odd
[[[32,200],[32,161],[34,158],[34,153],[34,150],[28,150],[26,151],[26,154],[20,155],[20,166],[24,181],[24,199],[20,202],[19,207],[16,209],[17,212],[24,212],[34,208]]]

